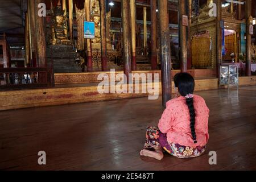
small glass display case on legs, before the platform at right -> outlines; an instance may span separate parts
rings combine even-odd
[[[220,88],[221,86],[237,86],[238,90],[238,67],[237,65],[221,65],[220,66]]]

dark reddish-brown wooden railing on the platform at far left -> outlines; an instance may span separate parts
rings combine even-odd
[[[0,90],[53,86],[52,68],[0,68]]]

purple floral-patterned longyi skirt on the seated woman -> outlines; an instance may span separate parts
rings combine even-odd
[[[166,134],[161,133],[158,127],[147,127],[146,138],[144,149],[159,146],[163,151],[168,152],[176,158],[195,158],[203,154],[206,148],[206,146],[193,148],[181,146],[177,143],[170,143],[167,141]]]

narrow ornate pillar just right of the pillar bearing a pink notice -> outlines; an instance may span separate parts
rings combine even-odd
[[[187,69],[191,69],[192,67],[192,53],[191,53],[191,32],[190,32],[190,27],[191,27],[191,18],[192,18],[192,0],[188,0],[188,6],[187,6],[187,11],[188,11],[188,28],[187,28],[187,56],[188,56],[188,62],[187,62]]]

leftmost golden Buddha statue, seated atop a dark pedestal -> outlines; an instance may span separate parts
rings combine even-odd
[[[53,10],[51,2],[52,11],[52,24],[51,24],[51,40],[52,45],[64,44],[71,45],[71,41],[68,40],[68,28],[67,28],[67,16],[64,16],[64,10],[62,10],[60,1]]]

